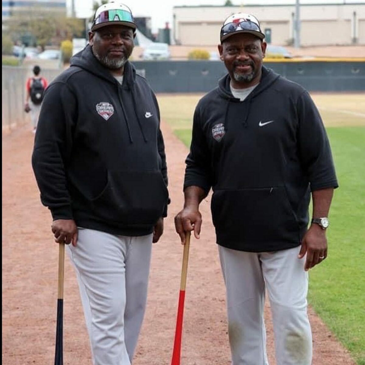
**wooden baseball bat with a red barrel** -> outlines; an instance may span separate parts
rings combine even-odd
[[[175,340],[174,340],[174,349],[172,351],[171,365],[180,365],[181,336],[183,333],[184,301],[185,301],[186,275],[188,271],[189,246],[190,246],[190,231],[186,233],[185,245],[184,245],[183,268],[181,269],[180,294],[177,306]]]

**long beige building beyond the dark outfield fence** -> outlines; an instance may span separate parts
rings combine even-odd
[[[349,2],[300,5],[301,46],[365,44],[365,2]],[[174,41],[187,46],[217,45],[223,20],[235,12],[255,15],[269,43],[292,44],[295,5],[176,6]]]

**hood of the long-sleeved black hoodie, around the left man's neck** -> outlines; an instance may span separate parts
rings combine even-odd
[[[87,72],[91,72],[97,77],[112,82],[113,84],[118,82],[116,81],[115,77],[110,73],[110,71],[106,67],[101,65],[101,63],[97,60],[97,58],[92,53],[92,48],[90,45],[87,45],[83,50],[72,56],[72,58],[70,59],[70,67],[72,66],[80,67]],[[135,83],[136,71],[134,66],[129,61],[124,64],[123,76],[126,79],[126,84],[128,85],[128,87],[132,88]]]

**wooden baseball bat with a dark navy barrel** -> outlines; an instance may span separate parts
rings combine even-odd
[[[54,365],[63,365],[63,321],[64,321],[64,264],[65,244],[59,244],[58,253],[58,295],[57,295],[57,327]]]

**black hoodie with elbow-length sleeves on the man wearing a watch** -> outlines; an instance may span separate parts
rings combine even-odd
[[[242,251],[300,245],[310,191],[338,186],[308,92],[265,67],[244,101],[229,75],[199,101],[186,163],[184,188],[213,188],[217,243]]]

